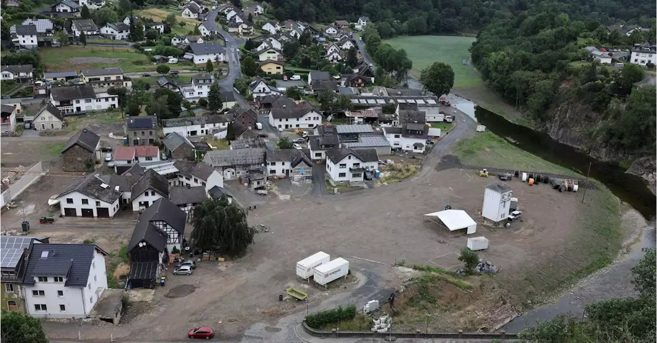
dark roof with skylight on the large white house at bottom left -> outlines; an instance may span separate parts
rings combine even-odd
[[[34,285],[34,277],[52,275],[66,277],[66,287],[87,287],[94,251],[107,255],[95,244],[34,244],[24,283]]]

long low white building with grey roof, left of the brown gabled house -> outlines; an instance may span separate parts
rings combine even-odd
[[[227,114],[164,119],[162,120],[162,132],[166,135],[178,132],[185,137],[204,136],[227,129],[232,119],[233,116]]]

